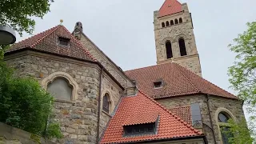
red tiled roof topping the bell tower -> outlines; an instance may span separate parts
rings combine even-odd
[[[166,0],[159,10],[159,17],[175,14],[182,11],[182,4],[177,0]]]

